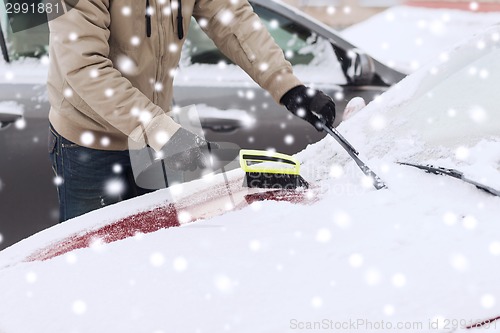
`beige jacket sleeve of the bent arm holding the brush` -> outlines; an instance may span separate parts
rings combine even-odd
[[[161,137],[156,135],[160,131],[171,136],[180,126],[114,68],[109,59],[109,1],[79,1],[50,20],[50,57],[57,59],[67,85],[91,109],[80,112],[91,118],[97,114],[134,141],[144,142],[147,134],[158,151],[164,142],[151,139]],[[140,110],[141,116],[133,110]]]

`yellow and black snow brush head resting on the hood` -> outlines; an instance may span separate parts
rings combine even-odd
[[[300,176],[300,163],[292,156],[265,150],[240,150],[240,166],[245,171],[243,186],[278,190],[308,188]]]

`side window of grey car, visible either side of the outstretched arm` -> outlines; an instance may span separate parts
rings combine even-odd
[[[309,65],[313,62],[317,53],[314,46],[322,41],[321,38],[276,12],[258,5],[254,5],[254,10],[292,65]],[[184,53],[184,65],[218,64],[221,61],[231,63],[205,35],[195,20],[191,20]]]

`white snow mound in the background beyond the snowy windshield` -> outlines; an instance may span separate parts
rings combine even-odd
[[[399,6],[343,30],[342,35],[378,60],[410,73],[439,58],[446,49],[498,22],[498,12]],[[376,33],[373,38],[367,38],[367,31]]]

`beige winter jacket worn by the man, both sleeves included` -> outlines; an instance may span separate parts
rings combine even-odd
[[[177,1],[80,0],[49,22],[49,119],[56,131],[102,150],[125,150],[129,137],[146,135],[160,150],[180,127],[165,112],[191,16],[276,101],[301,84],[269,33],[256,29],[259,18],[247,0],[182,0],[182,39]]]

